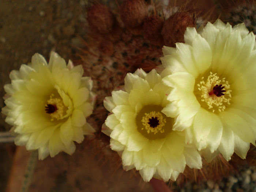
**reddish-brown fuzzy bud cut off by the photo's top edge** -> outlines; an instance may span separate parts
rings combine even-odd
[[[147,5],[144,0],[125,0],[120,14],[125,26],[136,28],[141,26],[147,17]]]

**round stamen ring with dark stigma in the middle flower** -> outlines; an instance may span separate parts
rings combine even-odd
[[[156,134],[158,132],[165,132],[163,126],[165,126],[166,119],[163,118],[160,112],[152,111],[150,113],[144,113],[141,122],[144,125],[144,128],[147,130],[147,133]],[[144,128],[142,128],[142,130]]]

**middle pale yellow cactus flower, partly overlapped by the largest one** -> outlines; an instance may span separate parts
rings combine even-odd
[[[125,170],[136,168],[144,181],[152,177],[176,180],[185,165],[200,169],[202,161],[192,145],[185,144],[182,131],[173,131],[173,118],[162,110],[170,102],[170,89],[155,70],[138,69],[125,77],[124,90],[112,91],[104,99],[111,114],[102,132],[110,136],[110,147],[122,157]]]

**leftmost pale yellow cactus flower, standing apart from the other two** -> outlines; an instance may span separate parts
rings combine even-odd
[[[36,53],[29,65],[10,73],[11,84],[5,84],[5,121],[12,125],[15,144],[37,150],[39,159],[60,151],[72,154],[75,142],[94,129],[86,123],[93,111],[93,82],[82,77],[81,65],[73,66],[52,52],[49,64]]]

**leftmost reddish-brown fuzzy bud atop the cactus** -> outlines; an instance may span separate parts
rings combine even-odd
[[[103,4],[94,4],[87,10],[87,21],[90,28],[100,34],[108,34],[113,30],[114,16]]]

